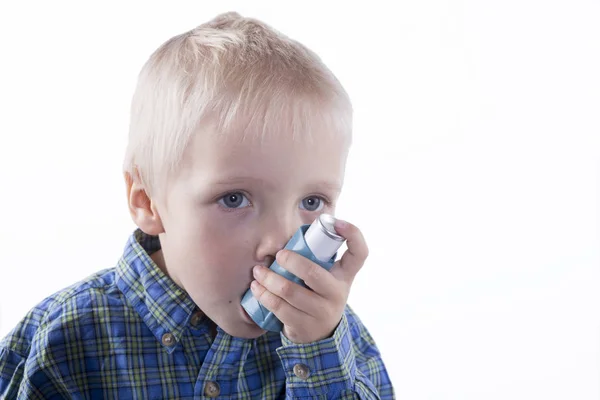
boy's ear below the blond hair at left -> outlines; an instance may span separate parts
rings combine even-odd
[[[163,233],[164,227],[156,204],[148,196],[146,188],[142,184],[137,171],[133,177],[125,172],[125,184],[127,185],[127,203],[129,214],[133,222],[147,235],[157,236]]]

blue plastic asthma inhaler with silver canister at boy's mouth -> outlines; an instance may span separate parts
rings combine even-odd
[[[333,227],[335,221],[335,217],[329,214],[319,215],[311,225],[302,225],[298,228],[284,248],[303,255],[329,271],[335,262],[336,252],[345,241],[336,233]],[[302,279],[284,269],[277,261],[274,261],[269,269],[306,287]],[[256,300],[251,289],[244,294],[242,307],[261,328],[271,332],[280,332],[283,329],[281,321]]]

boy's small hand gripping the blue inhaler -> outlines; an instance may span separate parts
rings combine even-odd
[[[283,334],[294,343],[331,337],[342,318],[354,277],[369,254],[357,227],[337,221],[335,230],[346,238],[348,250],[330,271],[293,251],[277,253],[279,265],[302,279],[312,291],[266,267],[254,267],[254,297],[279,318]]]

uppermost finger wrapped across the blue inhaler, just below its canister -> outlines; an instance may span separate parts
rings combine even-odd
[[[335,298],[339,294],[339,282],[319,264],[291,250],[279,251],[276,258],[279,265],[302,279],[315,293],[326,299]]]

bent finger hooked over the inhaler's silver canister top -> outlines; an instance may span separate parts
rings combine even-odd
[[[351,223],[338,220],[335,230],[346,239],[348,249],[331,272],[336,278],[351,283],[369,256],[369,248],[360,229]]]

